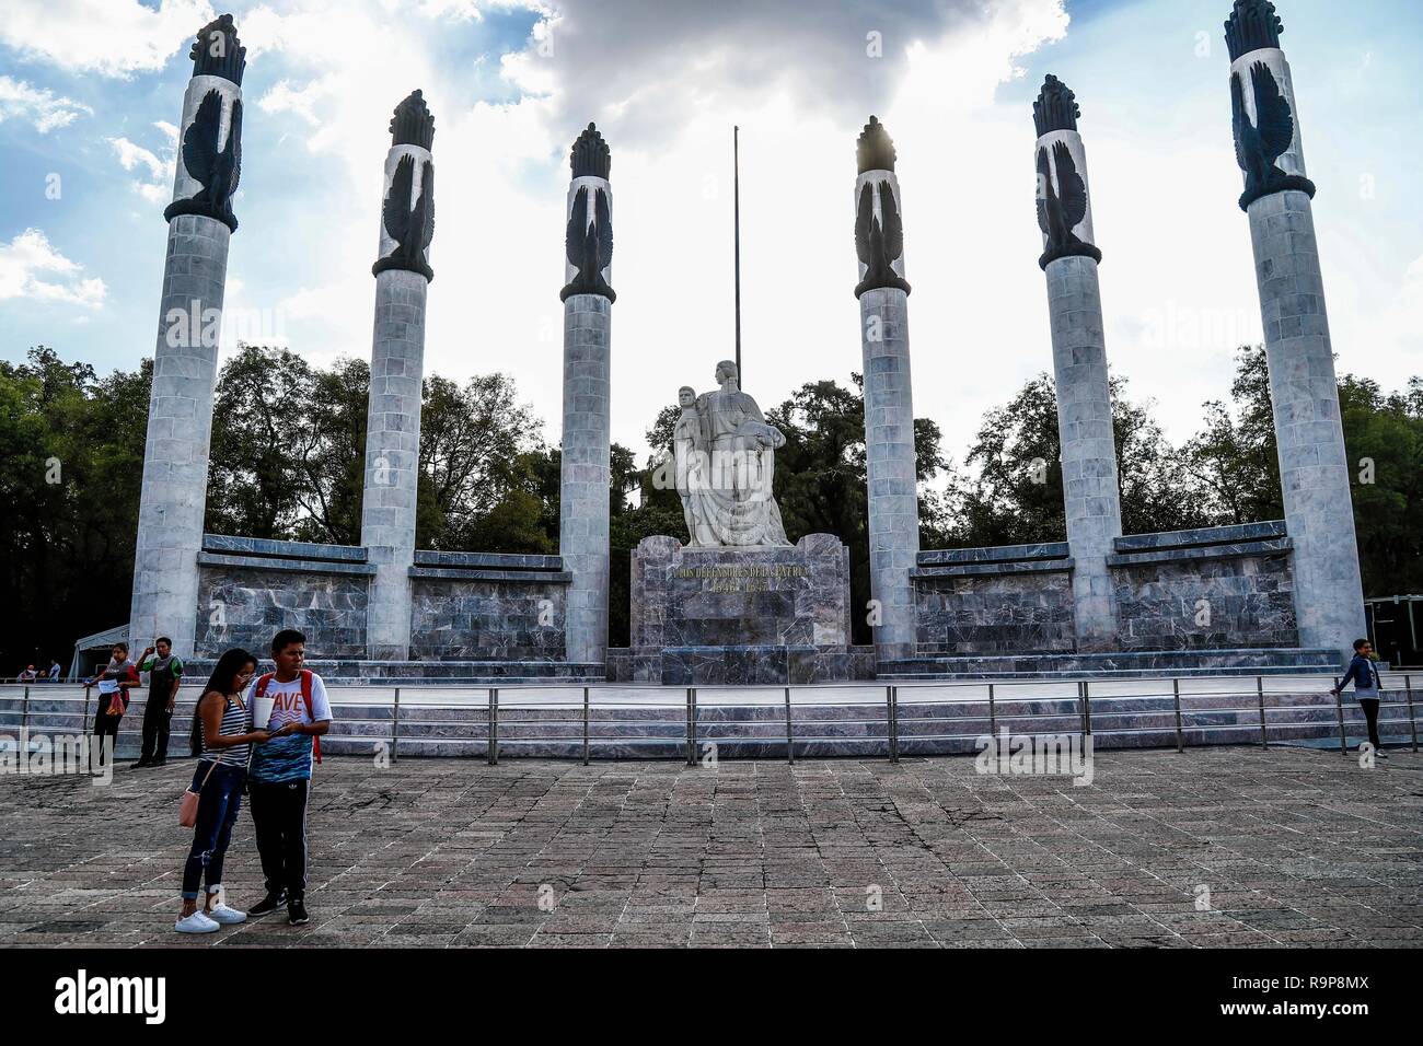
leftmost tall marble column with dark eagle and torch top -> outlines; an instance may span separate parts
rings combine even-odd
[[[246,48],[232,16],[198,31],[179,122],[178,171],[158,306],[144,480],[134,552],[129,636],[142,649],[166,635],[191,656],[198,613],[198,552],[208,502],[208,454],[232,195],[242,164]]]

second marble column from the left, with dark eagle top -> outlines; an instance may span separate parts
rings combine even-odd
[[[366,616],[374,660],[410,656],[410,568],[416,562],[420,485],[420,394],[425,295],[434,235],[435,121],[414,91],[390,121],[376,275],[376,330],[366,411],[366,480],[360,539],[376,576]]]

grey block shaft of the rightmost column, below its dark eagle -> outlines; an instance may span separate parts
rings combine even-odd
[[[1313,213],[1296,191],[1264,196],[1248,213],[1299,642],[1348,657],[1368,629]]]

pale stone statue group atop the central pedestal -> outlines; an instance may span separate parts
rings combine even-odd
[[[717,364],[719,391],[682,389],[675,428],[677,494],[692,548],[788,546],[773,495],[776,450],[785,435],[766,424],[737,387],[736,364]]]

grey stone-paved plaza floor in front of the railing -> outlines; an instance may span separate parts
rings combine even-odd
[[[172,932],[188,767],[6,777],[0,944],[1419,946],[1420,771],[1247,747],[1099,753],[1087,787],[972,759],[330,759],[310,925],[208,938]],[[260,897],[246,810],[226,881]]]

